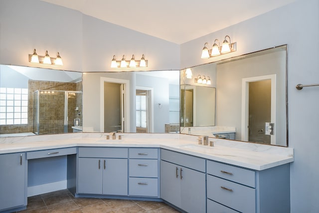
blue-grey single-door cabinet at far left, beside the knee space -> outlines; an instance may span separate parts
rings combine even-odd
[[[0,211],[26,206],[25,164],[25,153],[0,155]]]

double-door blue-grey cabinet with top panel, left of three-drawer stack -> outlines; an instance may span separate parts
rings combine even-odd
[[[128,148],[79,147],[78,194],[128,195]]]

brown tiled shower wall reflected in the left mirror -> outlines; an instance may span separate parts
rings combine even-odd
[[[55,81],[28,81],[28,124],[23,125],[1,125],[0,134],[9,134],[9,133],[20,133],[20,132],[33,132],[33,92],[36,90],[62,90],[62,91],[82,91],[82,82],[78,83],[65,83],[65,82],[55,82]],[[40,113],[39,120],[43,121],[40,123],[40,134],[52,134],[52,133],[63,133],[64,127],[59,125],[61,122],[61,117],[64,116],[64,95],[63,100],[61,97],[54,95],[55,93],[50,93],[41,96],[40,98],[40,112],[46,111],[47,113]],[[81,115],[78,117],[82,122],[82,94],[76,95],[74,98],[76,106],[79,107]],[[62,107],[63,105],[63,107]],[[72,105],[72,104],[71,104]],[[75,104],[74,104],[75,105]],[[69,120],[72,119],[72,122],[69,121],[70,130],[72,132],[71,126],[73,126],[73,119],[75,118],[75,106],[71,110],[71,115]],[[62,108],[61,110],[59,110]],[[70,111],[69,111],[70,112]],[[73,113],[74,112],[74,113]],[[61,114],[63,113],[63,114]],[[63,119],[62,119],[63,120]],[[59,127],[57,127],[59,126]],[[61,127],[60,127],[61,126]],[[60,129],[62,128],[62,130]],[[62,132],[61,132],[62,131]]]

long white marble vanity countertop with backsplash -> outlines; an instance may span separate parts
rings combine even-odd
[[[198,145],[197,136],[184,134],[121,133],[122,140],[106,140],[106,135],[69,133],[0,138],[0,154],[77,146],[155,147],[253,170],[265,170],[294,161],[294,150],[286,147],[217,138],[209,138],[215,142],[214,147],[209,147]]]

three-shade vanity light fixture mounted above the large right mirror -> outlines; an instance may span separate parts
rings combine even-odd
[[[218,44],[217,44],[217,41],[218,41]],[[211,49],[208,49],[206,47],[206,44],[208,45],[208,43],[205,42],[204,44],[203,50],[201,52],[201,58],[211,58],[218,55],[236,51],[236,42],[231,43],[229,35],[225,36],[222,46],[220,46],[218,39],[215,39]]]

